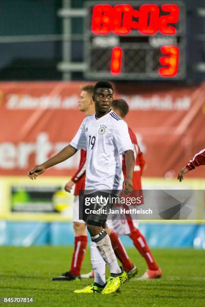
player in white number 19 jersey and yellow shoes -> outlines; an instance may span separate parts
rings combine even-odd
[[[111,195],[110,191],[124,189],[127,193],[132,192],[135,164],[133,145],[126,122],[111,110],[113,93],[113,87],[109,82],[99,81],[95,84],[93,91],[95,114],[87,116],[83,120],[68,146],[43,164],[35,166],[29,172],[29,177],[32,180],[44,173],[47,168],[72,157],[78,149],[86,149],[85,191],[86,193],[89,193],[89,190],[91,191],[84,196],[84,200],[93,195],[99,196],[99,191],[102,191],[100,195],[104,197],[106,195],[107,198]],[[120,158],[122,154],[125,154],[126,157],[127,178],[125,180],[122,172],[122,159]],[[92,194],[93,191],[95,191],[95,194]],[[105,191],[109,192],[106,193]],[[95,205],[98,204],[95,203]],[[108,203],[104,206],[105,211],[110,208],[110,205]],[[84,219],[92,239],[93,249],[95,251],[97,249],[101,258],[104,259],[104,263],[109,265],[111,276],[106,283],[105,275],[101,278],[98,274],[98,269],[101,269],[101,267],[95,267],[94,263],[94,283],[74,292],[101,292],[102,294],[116,292],[128,277],[127,273],[118,265],[110,237],[104,229],[107,216],[92,213],[85,216]],[[96,254],[94,258],[91,254],[91,262],[95,262],[95,259]]]

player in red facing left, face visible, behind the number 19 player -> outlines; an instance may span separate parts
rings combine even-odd
[[[81,88],[79,110],[89,116],[95,113],[94,101],[92,100],[93,85],[86,85]],[[75,185],[74,190],[74,203],[73,203],[73,229],[74,229],[74,251],[72,255],[71,267],[69,271],[54,277],[52,280],[74,280],[82,278],[94,277],[94,272],[88,274],[81,274],[80,270],[84,259],[85,251],[87,248],[87,231],[86,224],[83,220],[79,220],[79,191],[84,190],[85,187],[85,165],[86,165],[86,150],[80,150],[79,168],[73,175],[70,181],[65,185],[65,191],[70,192],[71,188]],[[118,235],[112,230],[107,228],[107,233],[110,236],[113,249],[116,256],[121,261],[123,269],[128,273],[131,278],[137,274],[136,266],[131,262],[129,256],[120,241]]]

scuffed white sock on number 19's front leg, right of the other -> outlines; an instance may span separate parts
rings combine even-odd
[[[96,237],[96,236],[95,236]],[[95,237],[92,239],[95,239]],[[121,273],[121,268],[118,264],[115,252],[113,250],[111,239],[107,234],[101,240],[96,239],[96,247],[101,255],[101,257],[106,261],[106,263],[110,266],[111,273],[119,274]]]

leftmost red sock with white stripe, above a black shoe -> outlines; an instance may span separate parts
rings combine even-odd
[[[76,236],[75,247],[72,255],[72,263],[70,273],[73,275],[80,275],[82,261],[84,259],[85,251],[87,248],[87,236]]]

